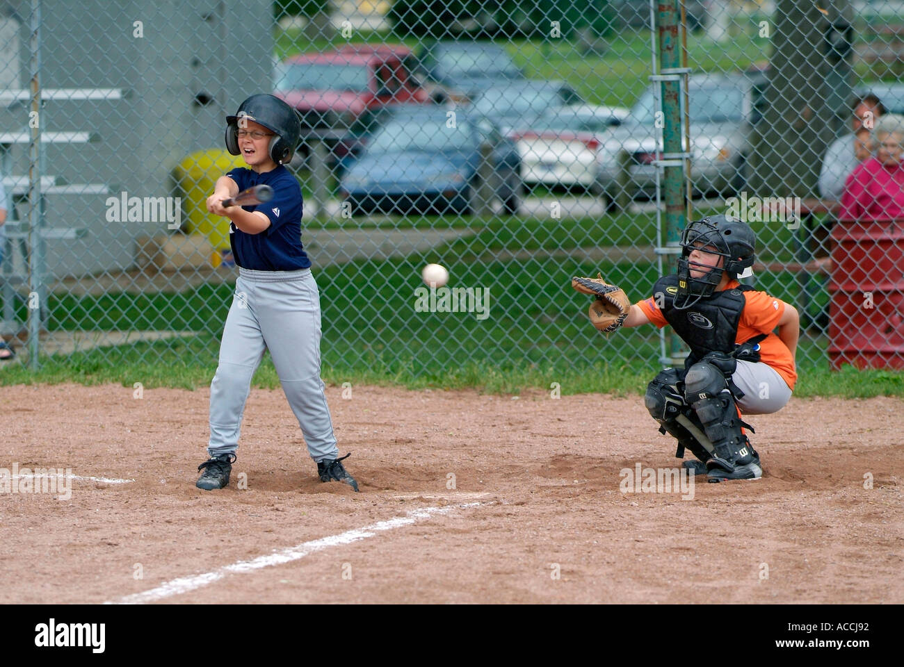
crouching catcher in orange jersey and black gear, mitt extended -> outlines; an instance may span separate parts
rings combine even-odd
[[[671,324],[691,348],[683,369],[660,372],[645,404],[661,433],[678,440],[675,456],[707,481],[758,479],[763,470],[741,414],[776,412],[797,379],[799,319],[794,306],[742,285],[752,275],[757,239],[744,223],[711,216],[683,231],[678,273],[656,281],[653,296],[631,305],[601,278],[575,277],[571,287],[596,296],[590,321],[603,332],[621,326]],[[778,327],[778,333],[773,329]]]

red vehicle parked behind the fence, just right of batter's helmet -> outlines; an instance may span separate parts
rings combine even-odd
[[[347,152],[343,143],[351,140],[350,130],[368,112],[427,102],[427,92],[405,65],[410,53],[404,46],[352,44],[279,62],[274,95],[297,108],[301,116],[301,155],[308,152],[305,135],[319,132],[327,137],[334,163]]]

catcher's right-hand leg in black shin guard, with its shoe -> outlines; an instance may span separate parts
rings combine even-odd
[[[738,407],[725,374],[709,362],[691,366],[684,378],[684,399],[696,412],[714,452],[706,461],[710,482],[758,479],[763,475],[759,456],[742,427]]]

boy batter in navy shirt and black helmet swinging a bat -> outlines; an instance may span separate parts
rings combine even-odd
[[[320,295],[301,244],[301,188],[283,166],[300,133],[295,110],[272,95],[253,95],[235,116],[226,117],[226,147],[242,155],[250,169],[221,176],[207,198],[208,211],[231,220],[239,278],[211,383],[211,458],[198,466],[200,489],[229,484],[251,377],[269,350],[320,481],[344,482],[358,491],[342,465],[349,455],[338,458],[320,379]],[[222,207],[223,200],[260,184],[273,188],[269,202]]]

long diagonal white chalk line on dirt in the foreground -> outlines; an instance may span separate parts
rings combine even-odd
[[[105,605],[142,605],[148,602],[162,600],[165,597],[182,595],[197,588],[205,587],[218,579],[225,577],[227,574],[240,574],[253,572],[260,568],[269,568],[274,565],[282,565],[290,563],[293,560],[303,559],[307,555],[315,551],[325,550],[329,547],[336,547],[343,544],[351,544],[358,540],[366,540],[373,537],[381,531],[391,531],[393,528],[408,526],[420,519],[428,519],[437,514],[447,514],[455,510],[467,509],[469,507],[477,507],[486,503],[465,503],[461,505],[452,505],[446,507],[421,507],[417,510],[408,512],[405,516],[397,516],[386,521],[377,521],[370,526],[363,528],[353,528],[351,531],[341,532],[338,535],[330,535],[319,540],[311,540],[303,542],[295,547],[287,547],[287,549],[278,550],[266,556],[259,556],[251,560],[239,560],[231,565],[213,570],[212,572],[204,572],[200,575],[192,575],[189,577],[181,577],[166,581],[158,587],[146,590],[144,593],[134,593],[130,596],[122,597],[118,602],[105,602]]]

